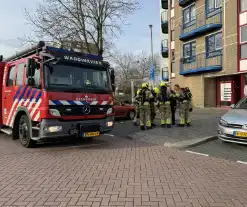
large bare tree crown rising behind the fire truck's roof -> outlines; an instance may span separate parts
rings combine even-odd
[[[102,55],[121,33],[125,18],[138,8],[138,0],[44,0],[34,13],[25,11],[36,39],[26,36],[21,40],[81,42],[88,53],[91,52],[88,43],[93,43]]]

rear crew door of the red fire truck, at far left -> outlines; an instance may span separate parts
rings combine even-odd
[[[3,123],[9,126],[11,121],[11,115],[14,111],[15,104],[13,102],[15,96],[15,77],[16,66],[9,65],[7,68],[7,76],[5,82],[5,90],[3,91]]]

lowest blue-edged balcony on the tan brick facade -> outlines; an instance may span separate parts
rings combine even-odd
[[[193,57],[180,59],[180,75],[193,75],[199,73],[222,70],[222,53],[200,53]]]

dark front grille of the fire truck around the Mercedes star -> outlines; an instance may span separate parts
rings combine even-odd
[[[84,112],[83,106],[50,106],[50,109],[57,109],[61,116],[83,116],[106,114],[109,106],[90,106],[90,112]]]

